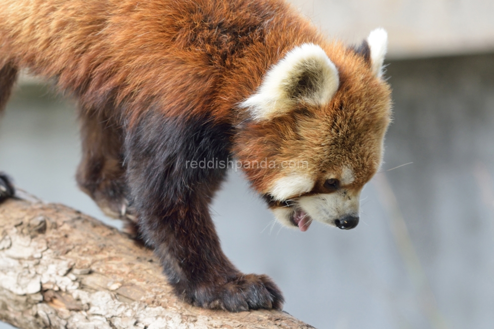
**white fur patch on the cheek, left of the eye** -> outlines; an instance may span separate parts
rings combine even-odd
[[[314,187],[314,180],[306,175],[291,174],[284,176],[271,186],[269,193],[275,200],[287,200],[289,197],[309,192]]]

